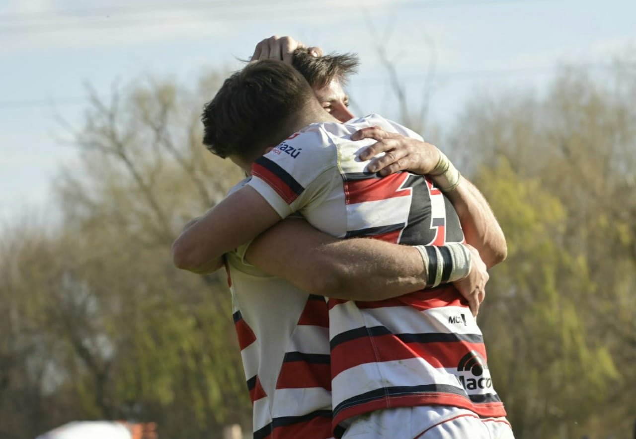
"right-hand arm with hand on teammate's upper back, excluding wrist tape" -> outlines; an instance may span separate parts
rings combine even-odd
[[[359,130],[351,138],[378,140],[363,151],[360,158],[368,160],[385,152],[384,156],[373,159],[369,164],[370,171],[380,172],[383,176],[403,170],[430,174],[441,157],[438,148],[432,144],[385,132],[378,127]],[[487,267],[494,267],[506,259],[508,247],[504,232],[488,202],[473,183],[460,176],[459,184],[443,192],[455,207],[466,242],[479,251]]]

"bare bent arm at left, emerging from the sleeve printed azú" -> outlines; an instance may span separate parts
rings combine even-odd
[[[223,254],[280,220],[256,190],[244,186],[184,228],[172,244],[172,260],[183,270],[212,272],[220,267]]]

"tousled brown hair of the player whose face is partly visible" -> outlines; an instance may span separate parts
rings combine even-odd
[[[329,53],[322,57],[314,57],[307,48],[294,50],[291,61],[307,82],[314,88],[326,87],[332,80],[345,84],[350,74],[356,73],[360,64],[354,53]]]

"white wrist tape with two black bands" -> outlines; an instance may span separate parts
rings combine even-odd
[[[414,247],[420,252],[424,262],[427,288],[459,281],[471,271],[473,254],[459,242],[452,242],[444,246]]]

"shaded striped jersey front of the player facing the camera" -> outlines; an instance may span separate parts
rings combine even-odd
[[[252,267],[245,249],[225,258],[254,439],[331,438],[326,300]]]

